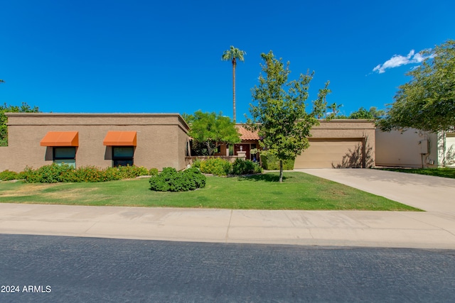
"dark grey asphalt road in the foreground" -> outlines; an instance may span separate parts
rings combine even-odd
[[[0,256],[0,302],[455,300],[455,250],[0,234]]]

